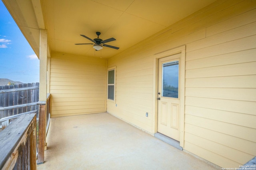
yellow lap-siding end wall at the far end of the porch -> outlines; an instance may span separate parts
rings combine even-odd
[[[52,53],[51,116],[106,111],[106,60]]]

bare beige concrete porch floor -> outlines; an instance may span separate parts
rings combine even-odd
[[[108,114],[52,118],[38,170],[220,169]]]

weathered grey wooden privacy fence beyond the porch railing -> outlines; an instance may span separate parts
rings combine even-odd
[[[38,117],[39,83],[0,86],[0,119],[28,111]]]

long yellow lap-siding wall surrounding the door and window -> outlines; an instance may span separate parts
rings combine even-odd
[[[255,40],[256,1],[218,0],[110,58],[107,111],[154,133],[154,54],[186,45],[184,149],[239,167],[256,155]]]

